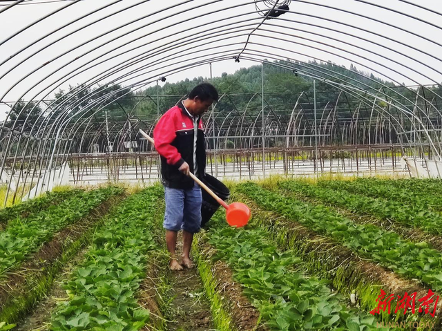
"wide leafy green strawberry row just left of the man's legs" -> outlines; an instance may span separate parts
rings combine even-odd
[[[135,293],[144,278],[146,254],[157,249],[155,228],[160,187],[127,198],[104,222],[86,259],[64,285],[70,298],[52,314],[51,330],[140,330],[149,312]]]

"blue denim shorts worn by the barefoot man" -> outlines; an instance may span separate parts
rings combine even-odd
[[[183,229],[192,234],[201,229],[201,187],[195,182],[193,189],[171,189],[164,187],[166,211],[164,229],[180,231]]]

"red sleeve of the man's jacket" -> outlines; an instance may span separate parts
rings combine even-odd
[[[162,115],[155,129],[153,129],[153,138],[155,139],[155,149],[166,158],[167,164],[181,167],[184,160],[177,148],[171,145],[176,138],[173,112],[168,111]]]

